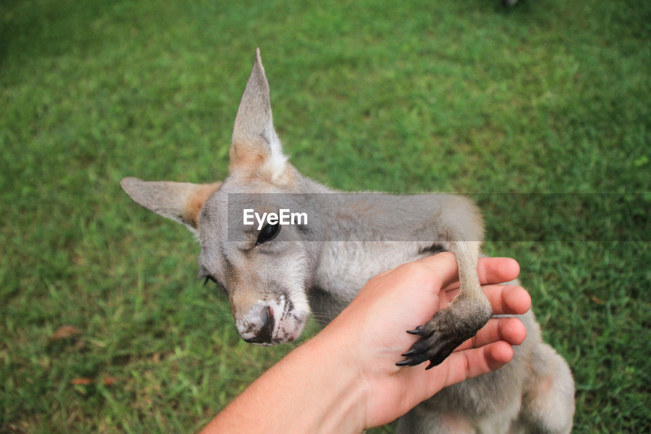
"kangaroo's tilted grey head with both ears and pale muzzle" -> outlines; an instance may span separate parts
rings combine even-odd
[[[306,238],[309,227],[244,225],[242,211],[304,208],[305,203],[292,195],[301,193],[302,182],[273,128],[269,85],[256,50],[235,118],[225,181],[190,184],[125,178],[120,184],[143,207],[195,232],[201,245],[200,275],[228,294],[242,339],[271,345],[294,340],[303,330],[309,315],[307,288],[318,252]]]

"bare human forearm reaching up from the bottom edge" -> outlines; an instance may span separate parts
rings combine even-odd
[[[365,384],[348,364],[349,353],[327,336],[304,343],[251,384],[202,434],[359,433]]]

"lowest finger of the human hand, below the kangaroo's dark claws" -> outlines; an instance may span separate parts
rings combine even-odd
[[[445,386],[495,371],[512,358],[513,347],[505,341],[452,353],[444,362],[448,364]]]

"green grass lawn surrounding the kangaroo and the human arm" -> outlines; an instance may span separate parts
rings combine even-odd
[[[193,431],[292,348],[243,343],[186,229],[118,185],[227,175],[256,46],[286,152],[333,188],[621,194],[651,183],[650,23],[631,0],[3,2],[0,431]],[[480,205],[572,366],[574,432],[651,429],[648,234],[559,214],[556,241],[499,241],[541,210]]]

